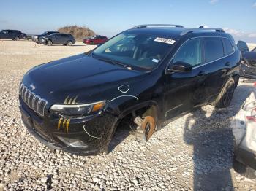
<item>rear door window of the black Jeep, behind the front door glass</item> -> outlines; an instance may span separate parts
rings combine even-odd
[[[216,61],[224,56],[222,39],[219,37],[207,37],[204,39],[206,63]]]

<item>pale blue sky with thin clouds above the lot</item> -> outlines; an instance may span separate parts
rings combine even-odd
[[[78,25],[113,36],[148,23],[218,27],[256,43],[256,0],[1,0],[0,29],[42,34]]]

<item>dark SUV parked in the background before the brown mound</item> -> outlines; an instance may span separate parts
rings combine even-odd
[[[51,46],[52,44],[63,44],[67,46],[72,46],[72,44],[75,44],[75,38],[74,36],[72,36],[72,34],[59,33],[40,37],[39,42],[47,44],[48,46]]]

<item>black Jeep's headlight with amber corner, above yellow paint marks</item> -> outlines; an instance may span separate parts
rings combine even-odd
[[[79,105],[55,104],[50,107],[50,110],[65,116],[81,117],[89,114],[95,114],[101,111],[104,108],[105,104],[105,101]]]

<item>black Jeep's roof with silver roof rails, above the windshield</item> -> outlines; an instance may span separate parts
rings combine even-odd
[[[127,30],[127,32],[139,34],[151,34],[154,36],[160,35],[161,37],[170,39],[181,39],[188,34],[225,34],[222,28],[183,28],[183,27],[137,27]]]

